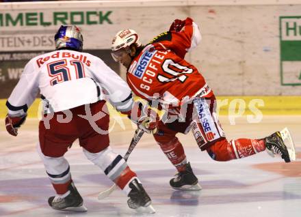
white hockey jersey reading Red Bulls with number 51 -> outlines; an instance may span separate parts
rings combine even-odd
[[[12,116],[24,115],[40,90],[47,113],[109,100],[129,111],[131,89],[99,57],[73,50],[55,50],[31,59],[6,105]]]

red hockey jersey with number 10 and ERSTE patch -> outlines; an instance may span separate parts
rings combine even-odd
[[[161,33],[133,59],[127,83],[137,96],[173,106],[213,96],[202,74],[183,59],[200,40],[196,31],[196,24],[187,18],[182,31]]]

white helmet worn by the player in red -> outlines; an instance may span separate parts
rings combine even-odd
[[[124,29],[118,31],[118,33],[115,35],[111,48],[113,52],[122,48],[129,50],[129,46],[131,46],[131,44],[136,44],[138,47],[142,45],[138,33],[136,33],[135,30]]]

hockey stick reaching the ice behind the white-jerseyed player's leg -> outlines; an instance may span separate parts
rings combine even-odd
[[[135,131],[135,134],[133,136],[133,139],[131,140],[131,144],[129,145],[129,149],[127,149],[127,153],[125,153],[125,156],[123,157],[125,159],[125,161],[127,161],[127,159],[129,158],[129,155],[131,154],[131,152],[133,151],[133,149],[135,148],[137,143],[140,141],[143,134],[144,134],[144,131],[137,128],[137,130]],[[104,191],[100,192],[98,199],[99,200],[105,199],[116,188],[117,188],[117,186],[116,186],[116,184],[114,184],[110,188],[108,188],[107,190],[104,190]]]

